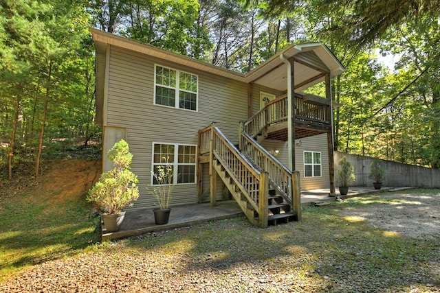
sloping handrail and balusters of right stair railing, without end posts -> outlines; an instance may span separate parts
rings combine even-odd
[[[272,156],[270,152],[267,152],[259,143],[256,143],[245,131],[241,132],[239,139],[241,139],[241,151],[254,162],[254,165],[259,166],[269,174],[270,185],[293,207],[294,192],[292,187],[294,186],[294,182],[292,171]]]

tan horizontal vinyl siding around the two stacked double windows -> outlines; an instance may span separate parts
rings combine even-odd
[[[155,64],[198,75],[197,112],[153,104]],[[146,191],[151,183],[153,142],[197,145],[198,130],[215,121],[225,136],[236,143],[239,121],[248,117],[247,105],[246,84],[111,47],[107,124],[127,129],[127,142],[133,154],[131,169],[140,182],[140,198],[132,209],[157,206],[155,198]],[[221,198],[220,179],[217,185]],[[175,186],[171,205],[194,202],[197,202],[196,184]]]

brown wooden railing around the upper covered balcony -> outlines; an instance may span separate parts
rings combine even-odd
[[[295,94],[294,115],[298,121],[311,121],[317,124],[330,123],[329,104],[307,100],[305,96],[299,94]],[[283,121],[287,121],[287,95],[267,102],[264,108],[245,122],[243,130],[248,132],[251,137],[256,137],[267,126]]]

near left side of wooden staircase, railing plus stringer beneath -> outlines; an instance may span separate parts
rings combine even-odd
[[[269,180],[212,124],[199,130],[199,154],[210,156],[210,176],[217,172],[248,220],[267,227]],[[214,182],[211,182],[213,185]],[[211,194],[211,197],[215,194]],[[211,198],[211,201],[214,201]]]

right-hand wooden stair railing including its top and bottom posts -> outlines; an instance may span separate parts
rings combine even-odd
[[[243,128],[243,122],[240,128]],[[292,207],[296,220],[301,217],[301,196],[299,172],[292,172],[278,161],[270,152],[267,152],[259,143],[245,131],[240,132],[239,150],[269,176],[270,187],[275,189],[287,204]]]

